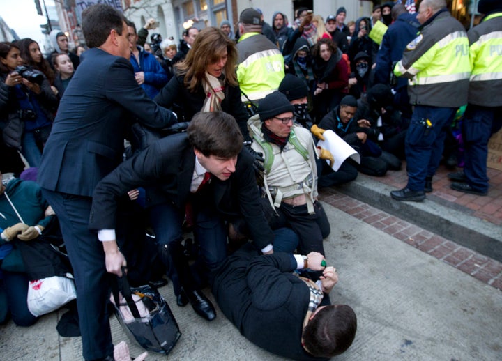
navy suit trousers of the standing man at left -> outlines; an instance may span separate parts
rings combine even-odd
[[[94,360],[113,355],[107,313],[109,275],[105,252],[96,233],[88,228],[92,198],[45,189],[42,192],[58,215],[73,267],[84,358]]]

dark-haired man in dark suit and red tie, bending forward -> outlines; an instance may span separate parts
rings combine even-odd
[[[93,194],[89,227],[114,229],[116,199],[128,190],[139,186],[161,190],[158,197],[163,197],[163,204],[156,212],[169,226],[165,227],[168,234],[157,240],[160,256],[169,267],[175,294],[187,296],[185,305],[190,301],[197,314],[211,321],[215,318],[213,305],[200,291],[180,248],[185,206],[190,204],[193,211],[202,277],[226,257],[223,220],[243,217],[257,249],[271,253],[274,233],[261,208],[253,162],[254,157],[243,149],[243,136],[233,116],[197,113],[187,134],[156,141],[103,178]],[[206,183],[204,178],[210,181]],[[183,305],[178,300],[180,303]]]

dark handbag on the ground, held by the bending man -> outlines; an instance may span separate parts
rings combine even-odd
[[[124,270],[122,272],[125,275]],[[121,301],[119,293],[123,296]],[[130,339],[148,351],[167,354],[172,350],[181,332],[157,289],[148,285],[131,288],[123,276],[112,282],[112,294],[115,315]],[[132,295],[137,297],[133,299]]]

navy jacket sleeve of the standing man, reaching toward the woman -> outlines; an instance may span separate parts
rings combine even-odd
[[[130,76],[124,76],[126,72]],[[106,87],[106,97],[136,116],[140,123],[151,128],[165,128],[177,122],[176,116],[169,109],[159,107],[138,86],[132,65],[125,58],[118,57],[105,76],[107,79],[103,84]]]

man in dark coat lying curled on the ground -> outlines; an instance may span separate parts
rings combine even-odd
[[[294,270],[322,271],[314,283]],[[305,275],[308,275],[305,272]],[[213,295],[223,314],[253,344],[291,360],[320,360],[351,346],[357,318],[347,305],[331,305],[338,281],[319,252],[261,256],[244,246],[213,275]]]

